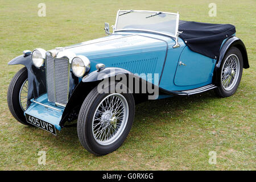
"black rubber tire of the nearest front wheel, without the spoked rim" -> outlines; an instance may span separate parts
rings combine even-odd
[[[110,93],[98,93],[96,86],[96,88],[88,94],[81,106],[79,117],[77,119],[77,134],[82,146],[92,154],[106,155],[117,150],[129,134],[131,126],[133,125],[135,113],[134,98],[132,94],[121,95],[125,98],[127,105],[129,106],[129,114],[127,115],[128,119],[126,120],[126,126],[124,127],[121,135],[119,135],[119,138],[108,145],[102,145],[96,141],[93,137],[92,125],[94,113],[96,113],[97,107],[106,97],[110,97]]]

